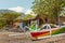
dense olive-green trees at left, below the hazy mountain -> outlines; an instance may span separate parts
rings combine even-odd
[[[3,13],[0,16],[0,28],[13,24],[14,19],[21,16],[21,13]]]

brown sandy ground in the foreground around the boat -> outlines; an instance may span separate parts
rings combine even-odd
[[[65,35],[31,41],[29,34],[16,34],[17,32],[0,32],[0,43],[65,43]]]

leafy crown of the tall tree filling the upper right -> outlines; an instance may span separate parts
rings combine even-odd
[[[62,8],[65,6],[65,0],[35,0],[32,11],[38,14],[42,19],[44,17],[49,19],[57,20]]]

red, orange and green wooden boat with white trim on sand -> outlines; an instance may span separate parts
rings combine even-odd
[[[42,39],[42,38],[60,34],[63,31],[64,31],[63,29],[61,29],[56,26],[46,24],[46,25],[43,25],[41,30],[31,31],[30,34],[35,39]]]

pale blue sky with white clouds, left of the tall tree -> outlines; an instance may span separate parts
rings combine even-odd
[[[34,0],[0,0],[0,10],[29,13]]]

